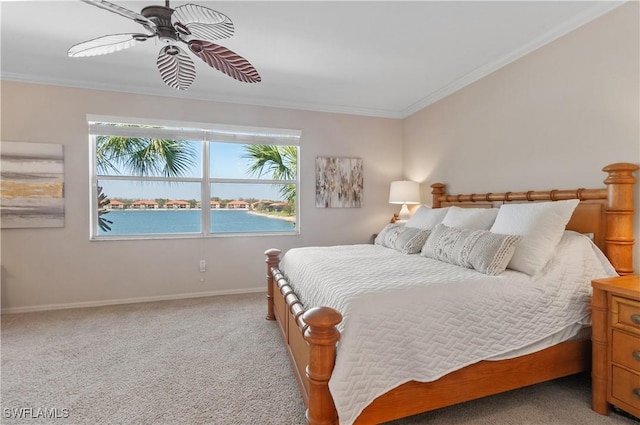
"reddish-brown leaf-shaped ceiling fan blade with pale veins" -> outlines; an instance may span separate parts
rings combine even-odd
[[[226,47],[202,40],[191,40],[188,44],[196,56],[218,71],[245,83],[262,81],[260,74],[248,60]]]

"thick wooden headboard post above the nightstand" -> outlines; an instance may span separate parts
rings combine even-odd
[[[633,190],[636,164],[620,162],[602,169],[609,174],[605,179],[608,196],[605,208],[607,233],[605,254],[619,274],[633,273]]]

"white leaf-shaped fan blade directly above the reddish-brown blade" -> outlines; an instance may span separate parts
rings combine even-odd
[[[233,22],[227,15],[197,4],[176,7],[171,24],[183,40],[219,40],[233,35]]]

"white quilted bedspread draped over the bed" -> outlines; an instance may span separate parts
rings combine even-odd
[[[434,381],[589,324],[591,280],[616,275],[573,232],[536,277],[510,270],[486,276],[378,245],[296,248],[280,268],[306,308],[343,314],[329,381],[342,425],[400,384]]]

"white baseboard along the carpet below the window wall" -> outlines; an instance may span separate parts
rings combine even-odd
[[[248,288],[248,289],[233,289],[233,290],[226,290],[226,291],[189,292],[186,294],[158,295],[155,297],[124,298],[124,299],[117,299],[117,300],[87,301],[87,302],[65,303],[65,304],[45,304],[45,305],[34,305],[34,306],[27,306],[27,307],[7,307],[2,309],[2,314],[31,313],[35,311],[64,310],[69,308],[102,307],[106,305],[146,303],[146,302],[153,302],[153,301],[170,301],[170,300],[181,300],[186,298],[212,297],[212,296],[218,296],[218,295],[251,294],[256,292],[265,292],[266,294],[266,288],[260,287],[260,288]]]

